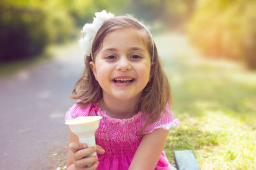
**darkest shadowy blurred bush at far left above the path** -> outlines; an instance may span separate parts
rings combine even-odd
[[[0,4],[0,62],[21,60],[36,55],[47,44],[47,30],[42,27],[44,14],[40,10]]]

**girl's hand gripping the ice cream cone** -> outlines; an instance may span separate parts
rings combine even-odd
[[[88,148],[86,143],[73,142],[69,145],[70,150],[73,154],[73,163],[76,169],[96,169],[99,166],[97,156],[88,157],[93,152],[103,154],[105,150],[99,145]]]

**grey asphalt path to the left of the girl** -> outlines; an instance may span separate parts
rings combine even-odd
[[[83,71],[76,45],[0,78],[0,169],[56,169],[67,154],[68,95]]]

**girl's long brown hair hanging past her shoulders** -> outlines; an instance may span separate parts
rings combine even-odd
[[[147,32],[148,36],[145,39],[145,42],[147,43],[148,53],[150,53],[152,58],[152,41],[150,34],[141,24],[139,24],[136,18],[133,18],[130,15],[114,17],[104,22],[93,41],[91,55],[96,56],[97,52],[102,46],[105,36],[109,34],[109,32],[127,27],[132,27],[134,29]],[[102,98],[102,89],[98,81],[95,80],[93,72],[90,69],[90,61],[92,61],[92,56],[85,56],[84,72],[77,80],[72,95],[69,96],[72,99],[81,99],[81,101],[77,102],[78,106],[86,106],[90,103],[97,103],[97,101]],[[138,132],[138,134],[141,134],[147,125],[156,122],[156,120],[161,117],[162,112],[166,112],[166,104],[172,106],[170,84],[166,74],[163,71],[163,67],[161,66],[155,43],[154,61],[152,62],[154,62],[154,64],[150,69],[150,81],[148,81],[147,86],[143,89],[142,96],[136,106],[136,112],[141,111],[148,121]]]

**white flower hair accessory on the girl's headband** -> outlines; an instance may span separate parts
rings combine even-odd
[[[107,13],[106,10],[95,13],[95,16],[96,17],[93,18],[93,23],[85,24],[83,30],[81,31],[84,34],[84,37],[79,40],[79,43],[86,56],[90,56],[92,53],[93,40],[103,22],[115,17],[113,13]]]

